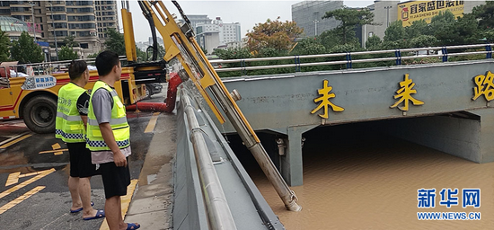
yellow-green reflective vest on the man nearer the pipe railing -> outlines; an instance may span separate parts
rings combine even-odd
[[[89,113],[87,115],[87,147],[91,151],[103,151],[110,150],[110,147],[106,145],[103,137],[101,136],[100,125],[96,120],[93,112],[93,94],[98,89],[103,88],[110,92],[113,98],[113,108],[111,109],[110,126],[113,131],[113,136],[119,148],[126,148],[130,146],[130,128],[127,123],[127,113],[123,103],[119,99],[119,94],[115,92],[108,84],[98,81],[93,86],[91,98],[89,99]]]

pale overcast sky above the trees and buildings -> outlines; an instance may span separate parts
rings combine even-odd
[[[302,1],[190,1],[179,0],[183,12],[187,14],[207,14],[210,19],[221,17],[223,22],[240,22],[242,37],[245,37],[247,31],[251,31],[256,23],[266,22],[267,19],[275,20],[278,16],[281,21],[292,20],[292,4]],[[166,8],[177,15],[180,15],[176,10],[172,1],[163,0]],[[364,1],[348,1],[344,4],[350,7],[364,7],[373,4],[373,0]],[[118,7],[121,4],[118,1]],[[136,41],[146,41],[151,36],[151,31],[146,19],[144,18],[137,1],[130,1],[130,12],[132,13],[132,21],[134,23],[134,34]],[[180,18],[180,16],[179,16]],[[119,23],[121,26],[121,16],[119,11]],[[123,30],[121,30],[123,32]],[[159,34],[159,33],[158,33]]]

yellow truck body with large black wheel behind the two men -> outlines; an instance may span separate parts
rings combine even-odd
[[[48,71],[57,65],[68,66],[64,62],[0,66],[0,120],[24,119],[26,126],[36,133],[55,132],[58,90],[70,82],[68,73]],[[17,72],[18,67],[26,66],[39,71],[34,71],[33,75]],[[98,77],[97,70],[91,70],[85,88],[92,89]],[[122,67],[115,90],[126,105],[146,98],[146,85],[137,84],[134,67]]]

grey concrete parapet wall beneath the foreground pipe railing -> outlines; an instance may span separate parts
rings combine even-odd
[[[207,113],[202,112],[203,99],[195,91],[195,86],[190,82],[182,84],[179,91],[181,97],[188,97],[192,102],[195,117],[198,120],[199,128],[194,128],[195,132],[200,132],[205,139],[207,152],[211,160],[208,165],[213,165],[221,183],[221,188],[225,193],[234,225],[236,229],[285,229],[279,222],[278,217],[269,207],[266,200],[260,194],[249,175],[243,169],[232,149],[228,146],[225,138],[214,125]],[[207,213],[208,195],[206,188],[214,186],[204,184],[200,179],[205,175],[199,172],[198,160],[193,145],[190,132],[190,124],[185,114],[185,105],[178,103],[177,106],[177,156],[174,173],[174,208],[173,227],[174,229],[209,229],[211,220]],[[199,164],[201,165],[201,164]],[[204,165],[204,164],[202,164]],[[211,182],[213,183],[213,182]],[[216,185],[216,184],[215,184]],[[215,200],[221,199],[215,196]],[[282,201],[280,200],[282,204]]]

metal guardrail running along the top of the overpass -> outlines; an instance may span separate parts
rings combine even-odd
[[[211,64],[229,64],[229,63],[240,63],[240,67],[226,67],[226,68],[216,68],[216,72],[230,72],[230,71],[247,71],[247,70],[260,70],[260,69],[271,69],[271,68],[287,68],[295,67],[296,72],[300,72],[300,67],[302,66],[328,66],[328,65],[341,65],[346,64],[347,68],[352,68],[352,63],[370,63],[370,62],[380,62],[380,61],[395,61],[396,65],[401,65],[401,60],[405,59],[415,59],[422,57],[442,57],[443,62],[448,61],[448,57],[457,56],[469,56],[485,54],[486,58],[492,58],[492,46],[494,44],[475,44],[475,45],[461,45],[461,46],[448,46],[448,47],[428,47],[428,48],[415,48],[415,49],[387,49],[387,50],[375,50],[375,51],[360,51],[360,52],[347,52],[347,53],[333,53],[333,54],[317,54],[317,55],[301,55],[301,56],[287,56],[287,57],[257,57],[257,58],[243,58],[243,59],[216,59],[210,60]],[[448,50],[454,49],[475,49],[475,48],[485,48],[485,51],[474,51],[474,52],[463,52],[463,53],[448,53]],[[419,52],[423,50],[441,50],[442,54],[432,54],[432,55],[419,55],[419,56],[402,56],[402,54],[410,54],[410,52]],[[373,54],[394,54],[394,57],[376,57],[376,58],[366,58],[366,59],[356,59],[353,60],[352,57],[362,56],[362,55],[373,55]],[[340,61],[322,61],[313,63],[302,63],[301,60],[307,58],[320,58],[320,57],[346,57],[346,60]],[[246,63],[256,62],[256,61],[274,61],[274,60],[294,60],[294,64],[282,64],[282,65],[271,65],[271,66],[246,66]]]

